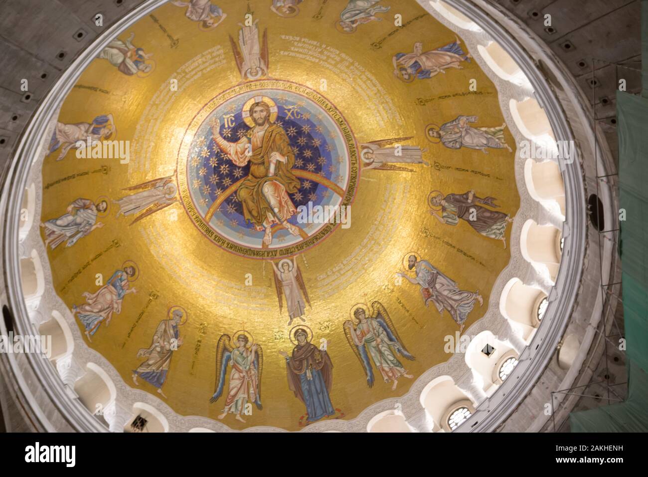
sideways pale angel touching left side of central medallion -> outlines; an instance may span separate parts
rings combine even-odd
[[[163,208],[167,208],[174,202],[178,202],[178,187],[174,184],[173,175],[167,177],[161,177],[148,182],[143,182],[143,184],[137,184],[137,186],[132,186],[126,188],[126,191],[140,190],[137,193],[132,193],[131,195],[126,195],[117,201],[113,201],[116,204],[119,204],[119,212],[117,212],[117,217],[119,215],[138,215],[130,223],[133,225],[137,221],[141,221],[147,215],[154,214]],[[148,210],[146,210],[148,209]]]

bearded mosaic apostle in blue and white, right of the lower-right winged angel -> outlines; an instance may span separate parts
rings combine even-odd
[[[478,301],[480,306],[483,305],[480,291],[472,293],[460,290],[456,282],[443,275],[427,260],[417,260],[415,255],[408,257],[408,269],[415,270],[416,278],[411,278],[404,273],[397,273],[397,275],[421,287],[425,306],[429,306],[430,302],[434,303],[441,315],[443,310],[448,310],[452,319],[459,325],[459,333],[463,332],[465,321],[468,314],[472,312],[475,302]]]

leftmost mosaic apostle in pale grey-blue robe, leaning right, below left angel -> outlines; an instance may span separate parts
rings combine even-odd
[[[67,206],[67,214],[41,223],[41,227],[45,229],[45,247],[49,245],[52,250],[56,249],[66,239],[65,247],[72,247],[78,239],[87,236],[95,228],[104,226],[97,222],[97,214],[106,212],[107,209],[106,201],[95,205],[89,199],[76,199]]]

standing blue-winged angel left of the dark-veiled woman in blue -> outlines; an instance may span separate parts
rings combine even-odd
[[[235,414],[237,421],[245,422],[241,413],[251,414],[251,404],[261,406],[261,371],[263,368],[263,351],[256,343],[249,345],[246,334],[237,336],[236,347],[231,343],[229,335],[222,335],[216,345],[216,389],[209,402],[216,402],[223,394],[227,363],[231,361],[232,371],[229,373],[229,388],[223,412],[218,419],[223,419],[227,413]]]

